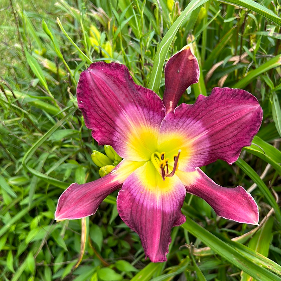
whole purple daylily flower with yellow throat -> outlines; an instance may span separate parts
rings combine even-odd
[[[90,216],[121,188],[118,213],[138,233],[152,262],[167,260],[171,228],[186,220],[181,213],[186,192],[206,200],[218,216],[258,224],[257,204],[243,187],[221,187],[199,167],[217,159],[235,162],[258,132],[262,109],[250,93],[230,88],[214,88],[194,105],[177,106],[198,78],[189,48],[166,64],[163,101],[136,85],[122,64],[96,62],[83,71],[77,99],[86,126],[123,160],[98,180],[71,184],[59,198],[56,219]]]

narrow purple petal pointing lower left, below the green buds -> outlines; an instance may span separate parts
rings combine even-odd
[[[60,196],[55,219],[80,219],[95,214],[104,198],[120,188],[141,162],[123,160],[108,175],[84,184],[72,183]]]

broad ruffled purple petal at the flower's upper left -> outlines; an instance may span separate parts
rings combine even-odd
[[[165,107],[152,90],[134,83],[125,65],[91,64],[80,75],[77,100],[86,126],[93,130],[93,138],[100,145],[113,146],[128,160],[150,158],[156,148]],[[149,156],[141,154],[144,151],[141,138],[151,139]]]

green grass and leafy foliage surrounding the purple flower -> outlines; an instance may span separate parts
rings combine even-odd
[[[1,1],[0,280],[281,280],[280,14],[278,0]],[[119,61],[162,96],[163,65],[187,43],[201,76],[181,102],[219,85],[248,90],[264,110],[235,164],[203,167],[249,189],[260,227],[216,217],[187,194],[187,222],[172,229],[168,261],[154,264],[118,216],[116,192],[84,221],[75,268],[81,220],[54,222],[55,206],[70,183],[99,177],[91,152],[104,152],[77,110],[79,74]]]

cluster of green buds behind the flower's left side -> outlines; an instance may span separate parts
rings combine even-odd
[[[100,167],[98,173],[101,177],[109,174],[122,161],[122,158],[115,152],[112,146],[105,145],[104,151],[106,155],[97,150],[93,150],[91,155],[93,162],[96,166]]]

